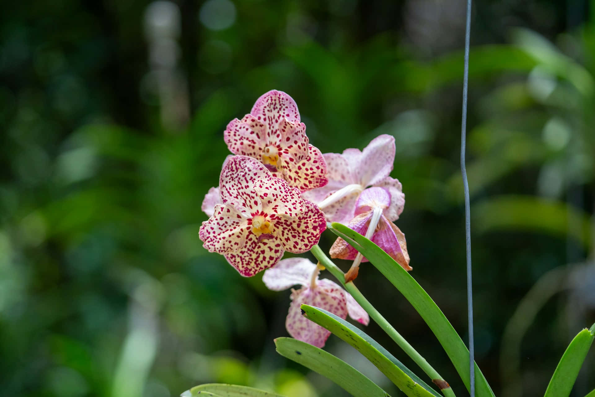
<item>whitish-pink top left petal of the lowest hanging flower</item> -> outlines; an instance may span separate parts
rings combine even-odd
[[[306,258],[287,258],[265,270],[262,282],[268,289],[282,291],[294,285],[308,286],[316,265]]]

